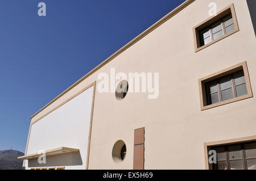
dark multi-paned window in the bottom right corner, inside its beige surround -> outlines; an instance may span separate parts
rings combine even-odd
[[[213,170],[256,170],[256,141],[212,146],[217,152]]]

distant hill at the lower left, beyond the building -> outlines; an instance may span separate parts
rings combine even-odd
[[[23,159],[17,159],[24,153],[17,150],[0,151],[0,170],[22,170]]]

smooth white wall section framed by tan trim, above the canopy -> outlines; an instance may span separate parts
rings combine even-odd
[[[79,149],[79,153],[47,157],[46,164],[42,165],[37,162],[37,159],[26,160],[26,168],[65,166],[65,169],[85,169],[92,98],[93,87],[90,87],[31,127],[27,154],[63,146]],[[59,158],[56,159],[56,157]]]

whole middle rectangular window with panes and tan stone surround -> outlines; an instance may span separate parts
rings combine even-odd
[[[201,110],[253,96],[246,62],[199,79]]]

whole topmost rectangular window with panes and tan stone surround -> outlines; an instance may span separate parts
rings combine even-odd
[[[199,51],[224,37],[239,31],[234,5],[226,7],[204,22],[193,27],[195,51]]]

